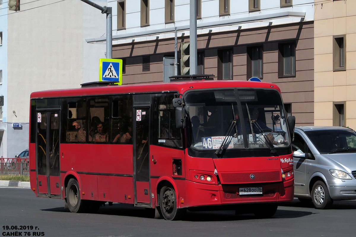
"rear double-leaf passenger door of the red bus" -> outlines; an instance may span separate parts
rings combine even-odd
[[[36,168],[38,196],[61,196],[59,111],[37,111]]]

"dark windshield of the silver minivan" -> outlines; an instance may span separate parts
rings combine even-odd
[[[356,133],[352,130],[305,131],[320,154],[356,152]]]

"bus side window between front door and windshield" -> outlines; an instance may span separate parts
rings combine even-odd
[[[180,129],[176,127],[174,93],[153,95],[152,144],[158,146],[183,147]]]

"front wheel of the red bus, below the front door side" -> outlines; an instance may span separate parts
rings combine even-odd
[[[185,209],[177,208],[177,196],[173,187],[163,186],[159,194],[159,207],[162,216],[168,221],[178,220]]]

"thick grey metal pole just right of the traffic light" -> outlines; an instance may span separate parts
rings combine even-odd
[[[197,74],[197,0],[190,0],[189,22],[189,74]]]

